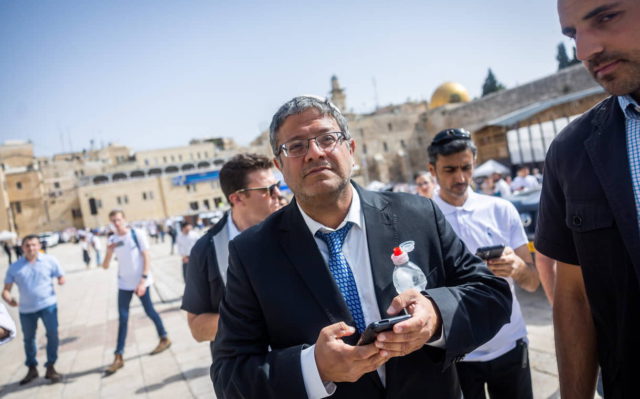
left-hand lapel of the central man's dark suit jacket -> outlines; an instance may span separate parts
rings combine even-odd
[[[280,226],[283,234],[282,248],[291,265],[324,310],[329,324],[345,321],[349,325],[355,325],[295,200],[285,212]]]

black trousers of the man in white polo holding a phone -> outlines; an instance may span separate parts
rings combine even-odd
[[[465,399],[484,399],[485,384],[491,399],[532,399],[531,371],[527,343],[518,340],[516,347],[486,362],[456,364]]]

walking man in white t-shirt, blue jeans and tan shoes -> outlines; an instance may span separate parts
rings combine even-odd
[[[111,375],[124,366],[125,339],[127,338],[127,324],[129,321],[129,305],[131,297],[135,293],[142,302],[147,316],[153,321],[160,337],[160,342],[151,351],[155,355],[171,346],[167,337],[160,315],[153,308],[149,287],[153,283],[150,270],[149,243],[141,230],[130,228],[124,216],[124,212],[115,209],[109,213],[109,221],[113,225],[115,234],[108,239],[107,254],[102,267],[109,268],[109,263],[114,252],[118,258],[118,341],[115,358],[105,373]]]

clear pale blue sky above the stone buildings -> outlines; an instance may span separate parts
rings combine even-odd
[[[442,82],[479,96],[557,69],[553,0],[0,0],[0,140],[38,156],[233,137],[247,144],[278,106],[326,95],[347,106],[429,99]]]

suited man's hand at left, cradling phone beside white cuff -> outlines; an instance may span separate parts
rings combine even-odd
[[[320,330],[315,359],[323,382],[354,382],[389,360],[389,354],[373,344],[352,346],[342,340],[355,332],[344,322]]]

